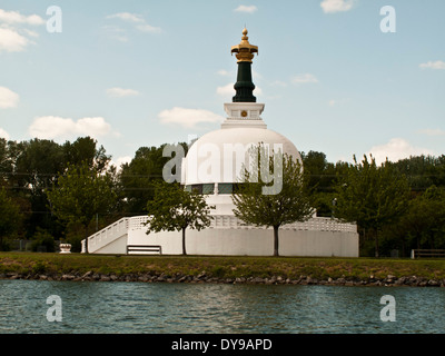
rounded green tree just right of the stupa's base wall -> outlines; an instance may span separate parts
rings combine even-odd
[[[354,156],[354,162],[336,184],[335,217],[357,222],[360,231],[370,233],[378,257],[379,231],[406,211],[408,181],[388,161],[377,167],[372,156],[370,161],[364,156],[362,162]]]

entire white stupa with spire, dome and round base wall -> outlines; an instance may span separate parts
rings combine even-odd
[[[243,30],[241,42],[231,47],[238,63],[236,95],[225,103],[227,118],[220,129],[196,140],[181,167],[181,185],[198,190],[215,206],[210,227],[186,231],[188,255],[273,256],[273,228],[245,225],[235,217],[231,192],[236,188],[248,148],[263,142],[301,161],[295,145],[285,136],[267,128],[261,118],[265,105],[256,102],[251,65],[258,47],[248,41]],[[146,234],[147,216],[122,218],[88,238],[91,254],[164,254],[182,253],[181,231]],[[85,240],[82,241],[85,246]],[[280,256],[358,257],[358,234],[354,224],[314,215],[308,221],[281,226]]]

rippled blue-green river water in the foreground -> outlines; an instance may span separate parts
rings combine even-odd
[[[445,288],[0,280],[2,334],[444,330]]]

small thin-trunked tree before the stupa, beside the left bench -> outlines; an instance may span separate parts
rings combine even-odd
[[[155,182],[155,197],[147,202],[148,230],[150,233],[182,231],[182,255],[186,250],[186,229],[201,230],[210,226],[210,210],[206,197],[186,191],[176,182]]]

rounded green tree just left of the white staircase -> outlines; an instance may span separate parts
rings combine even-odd
[[[88,237],[88,227],[97,215],[107,215],[115,210],[117,194],[115,180],[109,171],[100,172],[88,162],[80,166],[69,165],[59,177],[58,185],[47,191],[51,211],[68,225],[80,224]],[[88,238],[86,238],[88,253]]]

